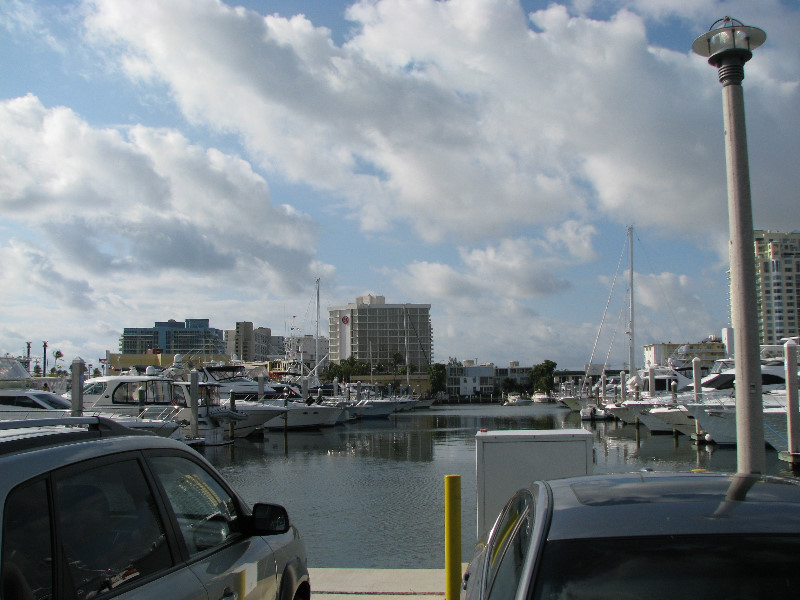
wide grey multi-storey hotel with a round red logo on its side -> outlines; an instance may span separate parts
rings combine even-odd
[[[373,365],[395,363],[414,372],[433,363],[430,304],[386,304],[383,296],[359,296],[355,303],[328,308],[330,362],[350,357]]]

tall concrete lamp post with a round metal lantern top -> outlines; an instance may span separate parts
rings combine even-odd
[[[753,250],[753,211],[744,121],[744,63],[767,34],[757,27],[725,17],[698,37],[692,50],[717,67],[722,84],[725,161],[728,173],[730,227],[731,318],[736,357],[737,468],[740,473],[763,473],[763,406],[758,313]]]

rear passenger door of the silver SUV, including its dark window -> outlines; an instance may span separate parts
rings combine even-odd
[[[138,452],[55,471],[52,490],[57,597],[208,598],[181,563]]]

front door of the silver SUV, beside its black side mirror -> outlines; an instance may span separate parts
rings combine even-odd
[[[189,568],[209,600],[277,597],[275,557],[260,536],[242,531],[232,492],[199,461],[183,454],[148,456],[178,525]]]

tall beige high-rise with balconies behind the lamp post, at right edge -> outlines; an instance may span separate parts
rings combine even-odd
[[[800,232],[757,229],[753,237],[759,337],[762,345],[780,344],[799,333]]]

